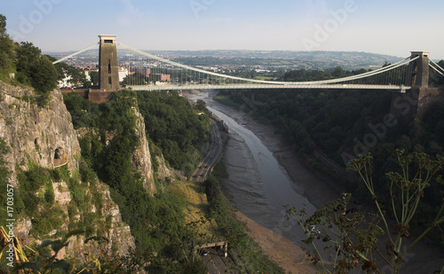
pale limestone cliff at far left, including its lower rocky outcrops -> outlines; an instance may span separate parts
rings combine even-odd
[[[48,106],[39,107],[35,102],[35,95],[30,88],[14,87],[0,82],[0,137],[9,146],[9,153],[5,155],[8,168],[12,171],[9,181],[18,187],[17,173],[28,170],[31,162],[43,168],[60,168],[67,166],[71,175],[78,174],[80,160],[80,145],[77,134],[73,128],[71,115],[63,104],[59,90],[51,92]],[[149,152],[149,151],[148,151]],[[154,180],[153,180],[154,182]],[[86,184],[78,182],[78,184]],[[154,183],[153,183],[154,184]],[[107,238],[107,244],[84,244],[85,236],[72,239],[69,246],[64,249],[67,256],[83,258],[85,252],[99,255],[99,249],[105,249],[108,254],[125,255],[129,249],[134,248],[134,239],[130,227],[122,222],[119,207],[111,200],[106,184],[98,180],[88,185],[83,191],[84,196],[91,196],[92,192],[100,199],[100,208],[90,203],[79,209],[73,201],[67,182],[53,182],[54,204],[65,212],[64,224],[58,231],[52,231],[44,239],[51,239],[57,232],[68,230],[69,223],[75,223],[87,214],[97,213],[99,216],[95,223],[102,225],[101,236]],[[18,193],[19,194],[19,193]],[[40,208],[39,210],[43,210]],[[68,214],[68,211],[70,213]],[[73,210],[75,211],[73,214]],[[33,228],[34,216],[25,216],[15,224],[15,234],[25,240],[26,244],[39,243],[29,232]],[[98,225],[99,225],[98,224]],[[97,228],[99,231],[99,228]],[[57,237],[59,238],[59,237]],[[99,246],[98,246],[99,245]],[[63,255],[63,254],[61,254]]]

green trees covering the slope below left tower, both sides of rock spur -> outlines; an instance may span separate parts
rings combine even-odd
[[[99,105],[71,94],[64,99],[75,128],[90,129],[79,140],[82,158],[110,186],[123,221],[131,226],[137,246],[134,260],[139,265],[149,262],[149,271],[156,273],[204,271],[192,254],[196,236],[192,226],[184,225],[184,201],[165,191],[167,183],[157,179],[155,195],[147,193],[141,175],[133,168],[132,153],[140,141],[133,110],[139,107],[147,135],[154,141],[150,149],[159,146],[173,168],[195,168],[196,147],[210,134],[208,118],[203,118],[206,115],[198,115],[175,92],[119,91]]]

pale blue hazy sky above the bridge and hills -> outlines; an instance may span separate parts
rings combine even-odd
[[[442,0],[15,0],[7,32],[42,51],[98,35],[139,50],[364,51],[444,59]]]

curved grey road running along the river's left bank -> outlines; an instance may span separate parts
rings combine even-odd
[[[218,162],[219,157],[222,155],[222,137],[218,129],[218,124],[214,119],[210,119],[211,130],[211,146],[210,153],[207,154],[205,159],[201,161],[199,167],[194,171],[191,181],[204,181],[211,173]]]

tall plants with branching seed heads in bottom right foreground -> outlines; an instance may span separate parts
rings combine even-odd
[[[424,198],[424,190],[431,184],[444,184],[439,172],[444,165],[444,158],[437,155],[437,160],[431,160],[424,153],[405,155],[397,151],[401,172],[389,172],[388,192],[390,200],[379,198],[373,184],[372,157],[360,155],[360,158],[348,164],[348,168],[358,172],[363,183],[372,196],[376,213],[367,213],[355,203],[349,207],[351,194],[344,194],[341,199],[329,202],[326,207],[307,216],[305,210],[297,210],[287,206],[287,216],[296,217],[303,227],[307,239],[305,243],[313,247],[310,252],[313,263],[318,264],[326,273],[347,273],[353,270],[363,270],[367,273],[381,273],[377,262],[383,260],[390,266],[392,273],[398,273],[403,257],[432,230],[440,230],[444,223],[444,202],[440,201],[440,209],[434,220],[418,236],[409,231],[409,223],[418,217],[420,200]],[[412,172],[412,170],[415,170]],[[442,194],[442,193],[441,193]],[[382,207],[392,207],[394,227],[389,226],[388,216]],[[379,223],[383,223],[382,227]],[[380,235],[387,235],[385,251],[377,245]],[[392,236],[393,235],[393,236]],[[405,244],[403,239],[413,238],[411,244]],[[329,254],[330,265],[324,263],[326,257],[323,249]],[[380,245],[379,245],[380,246]],[[441,273],[444,271],[444,267]]]

